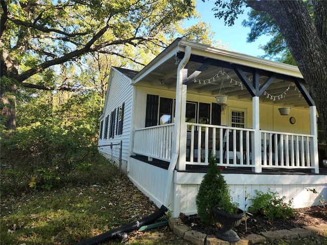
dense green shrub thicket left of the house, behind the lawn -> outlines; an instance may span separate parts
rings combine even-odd
[[[91,131],[68,131],[52,124],[17,128],[10,138],[2,139],[1,194],[50,190],[72,181],[96,182],[98,177],[102,181],[105,174],[110,179],[112,167],[92,145],[94,138]],[[99,167],[101,173],[95,173]]]

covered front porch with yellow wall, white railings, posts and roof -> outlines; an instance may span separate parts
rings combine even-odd
[[[133,80],[143,98],[135,102],[147,96],[147,114],[145,127],[134,128],[131,155],[177,170],[207,165],[215,155],[220,166],[255,173],[267,167],[319,173],[316,107],[297,67],[177,39]],[[207,103],[217,95],[228,102]],[[279,107],[293,116],[274,115]]]

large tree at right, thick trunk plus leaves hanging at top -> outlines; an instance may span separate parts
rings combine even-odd
[[[244,11],[245,5],[274,18],[309,86],[327,138],[327,1],[311,0],[310,3],[312,5],[301,0],[217,0],[214,11],[215,16],[224,18],[229,26]]]

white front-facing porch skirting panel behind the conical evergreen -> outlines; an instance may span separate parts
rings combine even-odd
[[[177,197],[174,216],[179,212],[185,214],[197,213],[195,198],[204,174],[181,173],[175,171],[175,197]],[[327,196],[327,176],[325,175],[246,175],[224,174],[229,184],[233,201],[245,207],[245,190],[250,195],[247,199],[247,207],[251,205],[251,198],[255,197],[254,190],[264,193],[268,189],[278,192],[280,197],[285,196],[285,202],[293,199],[293,207],[309,207],[319,205],[319,195],[308,191],[306,188],[316,189],[319,194]],[[255,183],[255,184],[253,184]]]

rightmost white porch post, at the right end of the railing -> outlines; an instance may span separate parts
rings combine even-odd
[[[311,164],[314,168],[312,173],[319,173],[319,159],[318,159],[318,135],[317,135],[317,111],[316,106],[310,106],[310,134],[313,135],[313,140],[310,144],[310,158]]]

